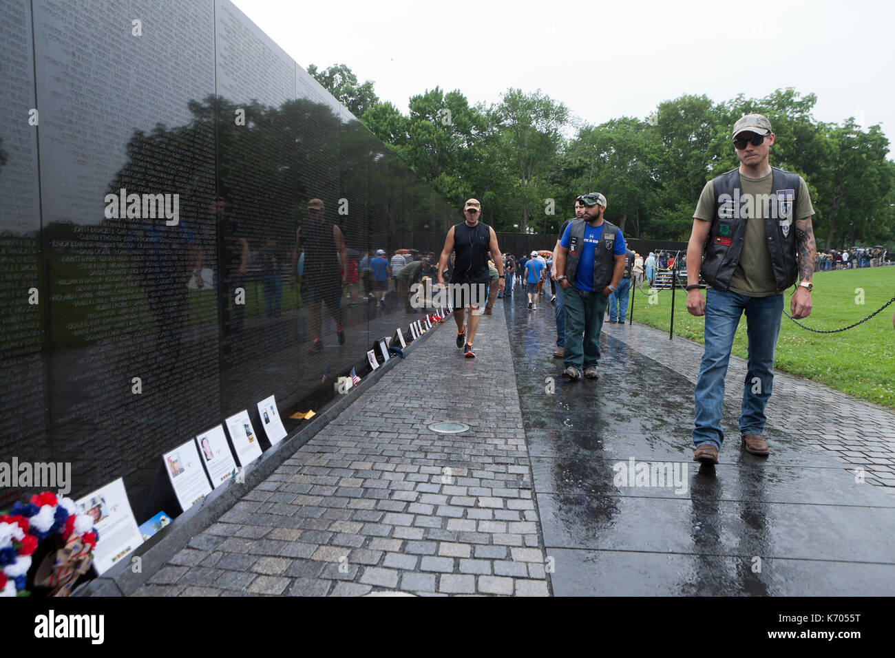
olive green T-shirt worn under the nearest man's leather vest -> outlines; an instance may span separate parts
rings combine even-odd
[[[739,181],[743,195],[770,194],[773,189],[773,172],[761,178],[749,178],[739,175]],[[811,196],[808,186],[802,176],[798,177],[798,201],[796,206],[796,219],[805,219],[814,215],[814,206],[811,205]],[[767,235],[764,233],[764,209],[762,204],[749,205],[749,219],[746,221],[746,235],[743,240],[743,251],[739,254],[739,264],[730,277],[729,289],[740,295],[750,297],[767,297],[779,295],[777,283],[774,281],[774,271],[771,266],[771,251],[768,249]],[[699,203],[696,204],[695,219],[703,219],[711,222],[715,218],[715,190],[712,181],[703,187],[703,193],[699,195]],[[761,221],[754,221],[758,219]]]

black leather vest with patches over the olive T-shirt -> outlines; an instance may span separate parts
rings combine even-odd
[[[764,214],[764,233],[777,290],[782,291],[796,281],[796,207],[801,183],[797,174],[771,167],[771,195]],[[700,274],[706,283],[727,290],[730,278],[739,263],[746,239],[746,199],[739,183],[739,168],[712,179],[715,193],[715,215],[703,251]],[[764,203],[756,200],[754,204]]]

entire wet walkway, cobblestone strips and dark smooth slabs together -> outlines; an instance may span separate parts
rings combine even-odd
[[[878,407],[780,377],[771,457],[754,457],[736,440],[734,359],[733,440],[699,466],[701,346],[606,325],[600,380],[570,382],[554,328],[550,303],[529,311],[519,288],[482,316],[474,360],[448,321],[136,595],[895,591],[893,435]],[[793,419],[805,391],[881,435],[826,432],[820,407]],[[445,421],[470,429],[428,429]],[[883,467],[859,483],[848,452]]]

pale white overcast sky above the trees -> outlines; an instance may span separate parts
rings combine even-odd
[[[471,104],[540,88],[591,124],[645,118],[683,94],[723,101],[794,87],[817,95],[820,121],[855,116],[895,134],[888,0],[234,4],[298,64],[347,64],[404,114],[408,98],[436,86]]]

